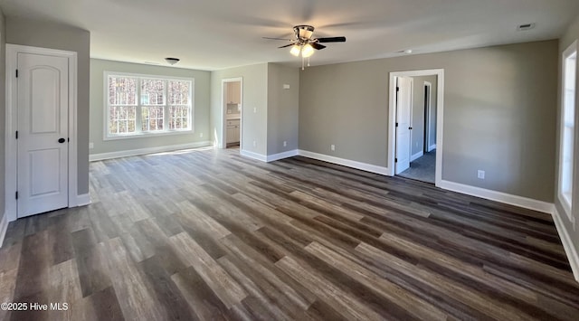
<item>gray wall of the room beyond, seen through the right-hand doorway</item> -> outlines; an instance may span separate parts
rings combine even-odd
[[[420,153],[424,150],[424,81],[429,81],[432,83],[433,101],[431,105],[431,115],[432,113],[436,115],[436,76],[413,77],[412,155]],[[432,132],[434,132],[434,136],[431,137],[431,139],[434,140],[433,144],[436,144],[436,118],[433,118],[432,122],[433,124],[431,127],[431,135]]]

